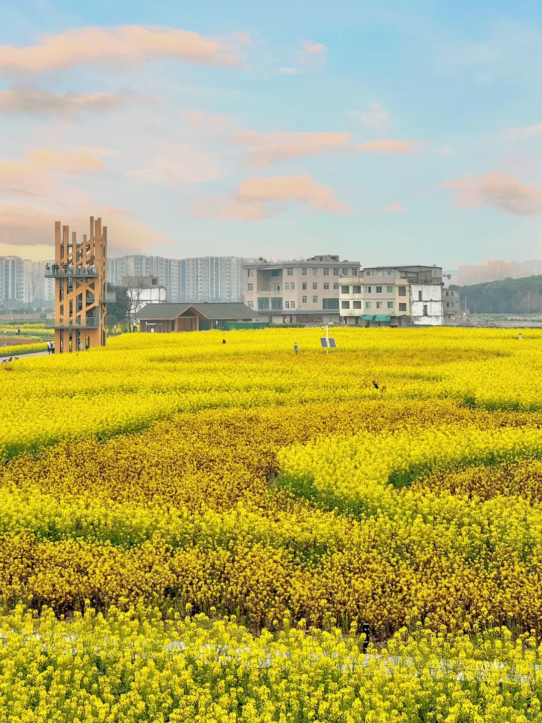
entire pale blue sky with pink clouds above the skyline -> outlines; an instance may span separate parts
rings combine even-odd
[[[477,4],[474,4],[475,6]],[[542,255],[542,12],[0,0],[0,253]]]

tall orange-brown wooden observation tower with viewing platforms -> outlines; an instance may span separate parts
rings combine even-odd
[[[55,279],[55,318],[46,327],[55,330],[55,354],[106,346],[107,226],[90,217],[90,235],[69,236],[69,226],[55,223],[55,262],[46,267]]]

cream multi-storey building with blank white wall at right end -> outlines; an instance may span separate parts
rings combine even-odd
[[[341,283],[340,315],[346,324],[442,326],[442,268],[365,268]]]

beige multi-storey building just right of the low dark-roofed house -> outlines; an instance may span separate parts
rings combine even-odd
[[[340,318],[340,283],[361,278],[358,261],[338,256],[304,260],[245,259],[243,301],[273,324],[334,323]]]

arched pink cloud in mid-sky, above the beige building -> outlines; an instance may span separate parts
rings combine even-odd
[[[196,215],[218,218],[242,218],[259,221],[277,210],[280,202],[296,202],[317,211],[345,213],[348,206],[335,200],[331,186],[313,181],[309,176],[274,176],[264,179],[254,176],[245,179],[235,196],[219,201],[215,208],[203,208]]]

